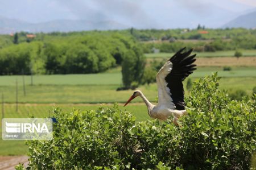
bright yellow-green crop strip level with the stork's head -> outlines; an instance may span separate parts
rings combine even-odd
[[[186,82],[187,80],[184,81],[184,85]],[[220,80],[222,89],[242,89],[248,94],[251,94],[254,86],[256,86],[256,77],[224,77]],[[18,102],[113,103],[127,101],[133,90],[116,91],[118,87],[118,85],[35,85],[26,86],[26,96],[24,96],[23,88],[19,86]],[[138,89],[142,90],[151,101],[155,101],[158,95],[156,84],[140,86]],[[3,92],[5,102],[15,103],[15,86],[0,86],[0,92]],[[134,102],[141,102],[141,99],[136,98]]]

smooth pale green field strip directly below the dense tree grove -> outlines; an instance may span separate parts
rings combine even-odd
[[[232,71],[223,71],[222,67],[199,67],[189,77],[204,77],[218,72],[221,77],[256,77],[255,67],[232,67]],[[22,76],[0,76],[0,86],[23,85]],[[24,76],[26,85],[31,85],[31,76]],[[33,85],[122,85],[121,68],[97,74],[55,74],[35,75]]]

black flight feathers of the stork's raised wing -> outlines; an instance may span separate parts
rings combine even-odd
[[[184,88],[182,81],[185,80],[189,74],[195,71],[196,65],[193,64],[196,59],[195,55],[191,55],[193,49],[187,52],[181,53],[183,49],[180,49],[169,61],[172,63],[171,72],[167,74],[165,80],[167,87],[170,89],[172,102],[175,104],[177,110],[184,110]]]

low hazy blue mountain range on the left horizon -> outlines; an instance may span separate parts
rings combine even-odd
[[[88,30],[122,30],[128,28],[113,20],[91,22],[89,20],[59,19],[42,23],[28,23],[18,19],[0,17],[0,34],[10,34],[19,31],[29,32],[69,32]]]

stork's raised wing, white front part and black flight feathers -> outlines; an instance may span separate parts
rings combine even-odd
[[[156,75],[159,105],[170,109],[185,109],[182,81],[196,70],[196,65],[193,64],[196,61],[196,54],[191,55],[193,49],[183,52],[184,49],[175,53]]]

